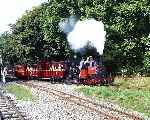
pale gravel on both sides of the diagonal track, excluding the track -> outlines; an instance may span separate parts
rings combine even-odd
[[[121,108],[118,105],[103,101],[97,101],[94,98],[86,97],[81,93],[75,92],[74,88],[76,87],[76,85],[52,84],[49,82],[39,81],[34,81],[34,84],[46,86],[56,90],[61,90],[72,95],[89,99],[98,104],[107,105],[108,107],[127,111],[126,109]],[[20,111],[26,113],[26,116],[29,120],[110,120],[110,118],[108,117],[93,112],[83,106],[68,102],[67,100],[64,100],[58,96],[48,95],[46,92],[39,91],[35,88],[31,88],[31,91],[34,96],[38,97],[35,102],[16,101],[17,107],[19,107]],[[137,114],[138,116],[143,116],[138,112],[132,111],[131,113]],[[123,119],[126,118],[124,117]]]

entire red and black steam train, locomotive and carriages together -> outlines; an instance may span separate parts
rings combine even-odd
[[[48,79],[82,84],[110,84],[111,71],[102,66],[79,69],[75,62],[41,61],[33,65],[16,65],[15,76],[21,79]]]

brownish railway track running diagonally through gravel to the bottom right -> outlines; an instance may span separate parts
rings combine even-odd
[[[111,107],[108,107],[106,105],[101,105],[98,103],[94,103],[88,99],[84,99],[69,93],[65,93],[56,89],[48,88],[46,86],[36,85],[33,83],[27,83],[27,82],[18,82],[18,84],[23,84],[41,91],[45,91],[48,94],[52,94],[55,96],[58,96],[64,100],[67,100],[69,102],[73,102],[77,105],[83,106],[85,108],[88,108],[89,110],[96,112],[98,114],[104,115],[110,120],[122,120],[122,119],[130,119],[130,120],[144,120],[141,117],[138,117],[134,114],[130,114],[124,111],[120,111]],[[101,108],[101,109],[99,109]],[[119,116],[120,115],[120,116]]]

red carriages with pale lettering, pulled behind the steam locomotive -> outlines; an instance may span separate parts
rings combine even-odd
[[[29,69],[27,69],[29,68]],[[40,62],[34,64],[32,67],[25,65],[16,65],[16,77],[38,77],[38,78],[51,78],[51,77],[64,77],[64,63],[63,62]]]

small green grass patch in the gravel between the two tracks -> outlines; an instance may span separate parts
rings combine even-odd
[[[6,90],[9,93],[14,94],[17,100],[36,101],[36,97],[32,95],[31,90],[27,87],[18,84],[11,84],[6,86]]]

